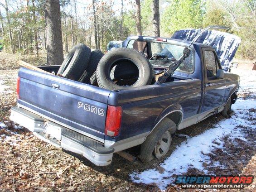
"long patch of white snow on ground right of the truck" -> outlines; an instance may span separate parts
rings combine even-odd
[[[256,73],[248,71],[237,71],[241,77],[240,92],[249,92],[255,95],[256,93]],[[250,75],[248,75],[250,73]],[[252,95],[253,95],[252,94]],[[223,148],[224,136],[228,136],[229,139],[235,138],[247,141],[242,129],[239,126],[244,126],[247,129],[256,130],[256,121],[248,120],[248,110],[256,109],[256,99],[239,98],[237,102],[232,105],[234,115],[229,119],[219,121],[212,129],[206,130],[200,135],[194,137],[187,137],[174,152],[159,164],[164,168],[163,173],[155,168],[145,170],[141,173],[133,172],[130,174],[130,178],[133,182],[144,184],[156,184],[160,189],[166,189],[166,187],[173,183],[175,177],[173,175],[181,175],[188,171],[188,168],[197,168],[205,174],[210,174],[203,163],[209,163],[210,158],[208,153],[211,153],[216,148]],[[252,119],[256,118],[255,113],[252,115]],[[187,136],[187,135],[178,135]],[[213,163],[213,162],[211,162]],[[191,166],[191,164],[193,166]],[[219,162],[214,162],[214,166],[224,168]]]

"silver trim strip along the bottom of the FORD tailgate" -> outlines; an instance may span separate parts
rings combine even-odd
[[[92,135],[92,134],[88,134],[88,133],[86,133],[86,132],[84,132],[84,131],[81,131],[81,130],[78,130],[78,129],[76,129],[76,128],[74,128],[74,127],[71,127],[71,126],[69,126],[69,125],[66,125],[66,124],[64,124],[64,123],[61,123],[61,122],[59,122],[58,120],[54,120],[54,119],[52,119],[52,118],[50,118],[50,117],[48,117],[48,116],[46,116],[46,115],[43,115],[43,114],[41,114],[41,113],[39,113],[39,112],[37,112],[37,111],[35,111],[35,110],[33,110],[33,109],[30,109],[29,107],[26,107],[26,106],[23,106],[23,105],[21,105],[21,104],[19,104],[19,103],[17,103],[17,106],[18,107],[21,107],[21,108],[24,108],[25,110],[28,110],[28,111],[30,111],[30,112],[32,112],[32,113],[34,113],[34,114],[37,114],[37,115],[40,115],[40,116],[42,116],[43,118],[45,118],[45,119],[48,119],[48,120],[51,120],[51,121],[53,121],[53,122],[55,122],[55,123],[57,123],[57,124],[59,124],[59,125],[62,125],[62,126],[64,126],[64,127],[67,127],[67,128],[69,128],[69,129],[71,129],[71,130],[74,130],[74,131],[77,131],[78,133],[80,133],[80,134],[83,134],[83,135],[85,135],[85,136],[88,136],[88,137],[90,137],[90,138],[92,138],[92,139],[96,139],[97,141],[100,141],[101,143],[104,143],[104,139],[101,139],[101,138],[99,138],[99,137],[96,137],[96,136],[94,136],[94,135]],[[35,106],[36,108],[39,108],[39,107],[37,107],[37,106]],[[40,109],[40,108],[39,108]],[[42,110],[42,109],[41,109]],[[51,113],[51,112],[49,112],[49,113]],[[51,113],[52,114],[52,113]],[[54,115],[54,114],[53,114]],[[56,115],[55,115],[56,116]],[[73,121],[72,121],[73,122]],[[75,123],[75,124],[77,124],[77,123]],[[77,125],[80,125],[80,124],[77,124]],[[85,127],[84,125],[82,125],[83,127]],[[90,128],[91,129],[91,128]],[[95,131],[95,130],[94,130]]]

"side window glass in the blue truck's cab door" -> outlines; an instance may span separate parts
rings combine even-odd
[[[204,52],[204,60],[206,65],[207,78],[216,77],[216,60],[213,51]]]

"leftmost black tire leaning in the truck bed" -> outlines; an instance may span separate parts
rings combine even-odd
[[[73,47],[60,66],[57,75],[77,81],[86,69],[91,56],[91,49],[84,44]]]

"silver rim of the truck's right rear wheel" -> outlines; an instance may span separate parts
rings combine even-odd
[[[170,132],[165,131],[155,146],[154,154],[156,158],[162,158],[168,152],[171,141]]]

